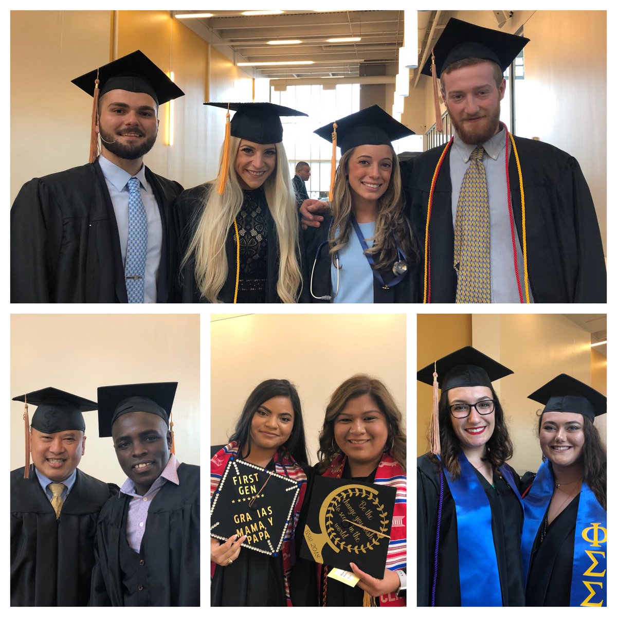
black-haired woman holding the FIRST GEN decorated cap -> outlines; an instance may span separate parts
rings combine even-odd
[[[302,407],[286,379],[267,379],[244,404],[231,441],[210,461],[210,498],[231,458],[240,458],[300,484],[300,493],[276,557],[242,549],[246,536],[226,542],[210,538],[210,604],[213,607],[291,606],[289,573],[296,551],[294,532],[304,500],[308,466]]]

